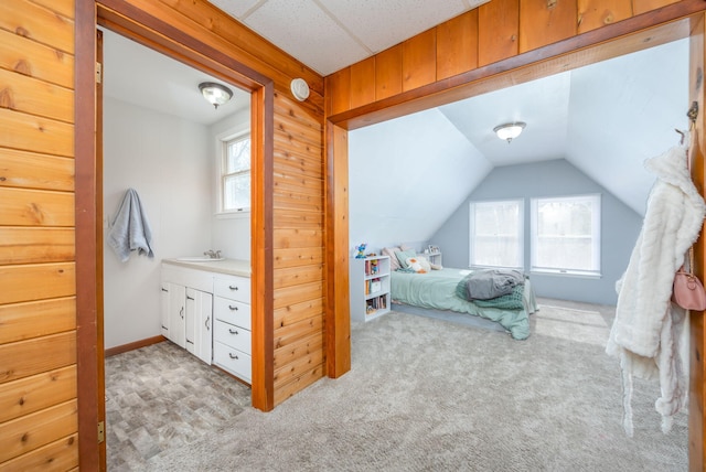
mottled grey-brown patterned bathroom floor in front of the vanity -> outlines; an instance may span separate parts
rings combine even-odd
[[[250,405],[250,389],[162,342],[106,358],[109,471],[145,470],[145,461],[192,442]]]

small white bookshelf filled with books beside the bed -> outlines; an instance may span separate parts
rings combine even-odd
[[[350,260],[351,320],[370,321],[389,312],[389,257]]]

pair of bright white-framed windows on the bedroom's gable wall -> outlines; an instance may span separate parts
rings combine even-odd
[[[531,199],[530,237],[524,201],[471,202],[470,266],[600,275],[600,195]]]

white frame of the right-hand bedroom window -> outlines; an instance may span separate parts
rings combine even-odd
[[[571,267],[541,267],[537,264],[537,250],[539,247],[537,235],[537,221],[538,221],[538,203],[539,202],[590,202],[591,203],[591,268],[590,269],[577,269]],[[558,275],[558,276],[579,276],[589,278],[601,277],[601,195],[596,194],[582,194],[582,195],[561,195],[561,196],[545,196],[533,197],[530,202],[531,215],[531,256],[530,256],[530,271],[544,275]]]

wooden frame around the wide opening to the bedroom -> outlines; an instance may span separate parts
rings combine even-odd
[[[349,155],[347,131],[398,118],[411,112],[437,107],[448,103],[469,98],[483,93],[493,92],[511,85],[546,77],[564,71],[606,61],[623,54],[633,53],[648,47],[664,44],[692,35],[697,23],[703,23],[706,4],[703,1],[685,0],[662,9],[633,17],[619,23],[541,47],[504,61],[459,74],[445,81],[435,82],[399,95],[361,106],[327,120],[327,173],[331,184],[327,195],[328,229],[346,230],[328,234],[328,296],[333,300],[329,304],[327,318],[330,376],[342,375],[350,369],[350,310],[349,300],[347,254],[347,192],[349,192]],[[703,28],[703,25],[702,25]],[[692,36],[694,41],[694,37]],[[702,43],[704,36],[700,36]],[[686,86],[686,84],[685,84]],[[703,96],[703,89],[700,92]],[[688,104],[684,104],[684,111]],[[703,109],[703,107],[702,107]],[[702,124],[706,122],[706,114],[702,112]],[[700,129],[706,129],[706,125]],[[703,144],[703,141],[700,142]],[[702,195],[704,193],[703,160],[693,168],[693,176]],[[700,172],[700,174],[698,174]],[[333,185],[332,183],[335,183]],[[704,278],[706,268],[706,235],[696,243],[698,256],[695,271]],[[344,260],[343,266],[341,261]],[[331,264],[335,262],[335,264]],[[338,265],[336,265],[338,264]],[[333,328],[329,326],[333,324]],[[343,326],[341,323],[344,323]],[[703,313],[692,313],[692,377],[689,387],[689,469],[703,470],[704,459],[704,323]],[[695,363],[694,361],[697,361]],[[345,363],[347,362],[347,368]],[[336,368],[339,368],[336,371]]]

